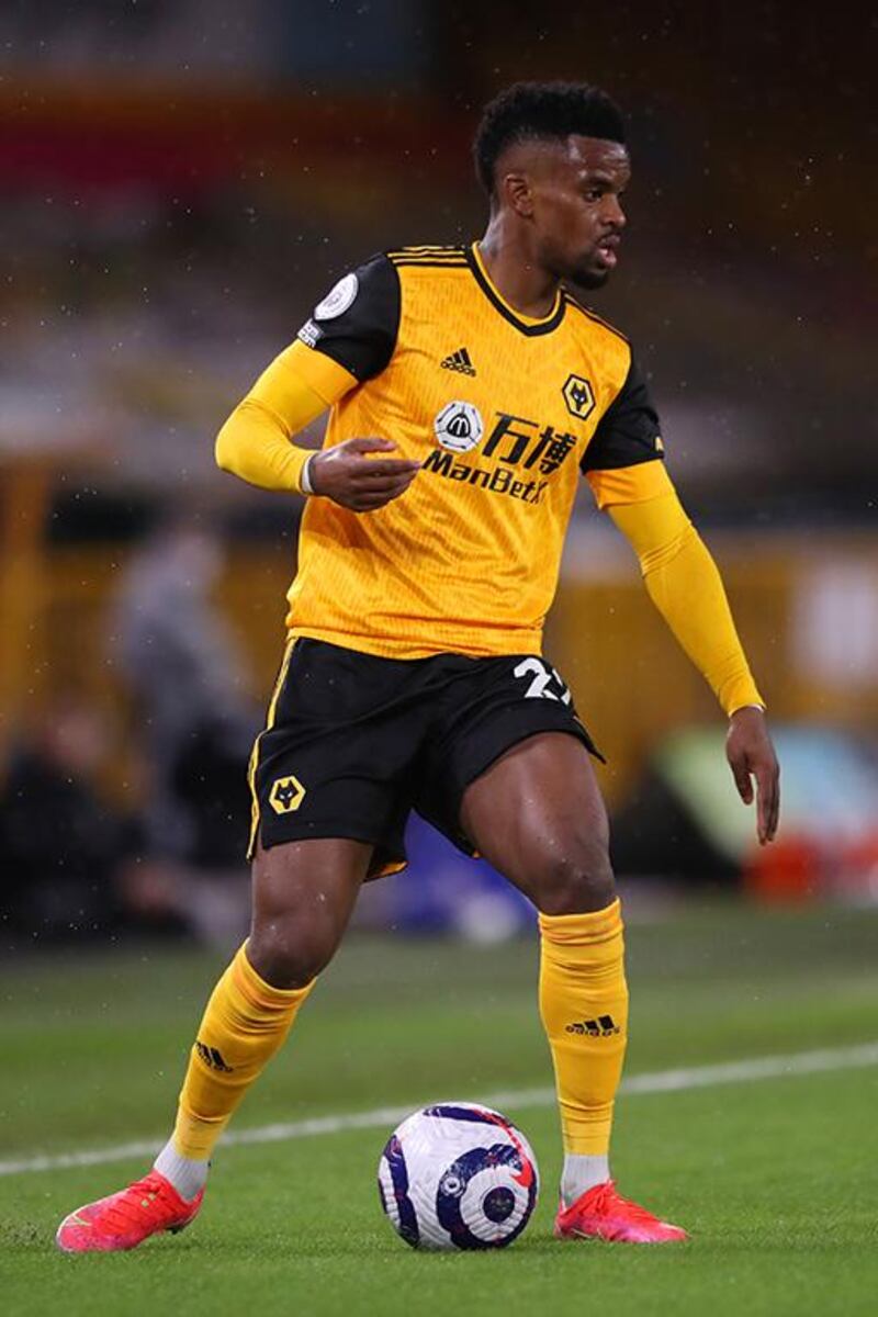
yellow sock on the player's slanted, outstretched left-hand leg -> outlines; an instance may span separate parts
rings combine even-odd
[[[204,1160],[232,1113],[282,1046],[313,988],[272,988],[238,948],[207,1004],[174,1126],[179,1156]]]

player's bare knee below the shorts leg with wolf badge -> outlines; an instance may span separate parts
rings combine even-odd
[[[257,847],[247,951],[269,982],[307,982],[329,963],[371,857],[371,844],[348,838]]]

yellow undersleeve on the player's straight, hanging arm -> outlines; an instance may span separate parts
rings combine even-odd
[[[765,707],[716,564],[666,473],[665,481],[663,493],[641,502],[611,503],[609,515],[640,560],[650,599],[712,686],[724,711],[731,715],[745,705]]]

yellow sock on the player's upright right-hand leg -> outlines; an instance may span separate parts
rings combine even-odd
[[[554,1063],[563,1148],[606,1156],[628,1039],[620,903],[591,914],[541,914],[540,939],[540,1014]]]

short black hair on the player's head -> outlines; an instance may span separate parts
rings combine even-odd
[[[625,141],[619,105],[588,83],[513,83],[484,107],[473,155],[479,183],[494,196],[494,169],[512,142],[565,141],[571,133]]]

